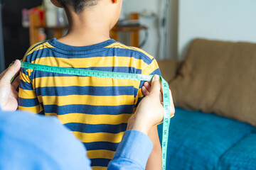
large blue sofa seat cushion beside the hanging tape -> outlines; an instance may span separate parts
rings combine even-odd
[[[162,125],[158,128],[161,140]],[[255,128],[246,123],[176,108],[169,129],[167,169],[217,169],[220,157],[252,132]]]

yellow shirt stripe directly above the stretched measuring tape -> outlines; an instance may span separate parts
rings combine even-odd
[[[135,67],[143,69],[147,64],[143,60],[135,59],[134,57],[91,57],[91,58],[56,58],[56,57],[41,57],[33,61],[35,64],[44,64],[55,67]]]

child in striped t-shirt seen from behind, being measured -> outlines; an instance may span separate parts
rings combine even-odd
[[[161,74],[146,52],[110,39],[122,0],[51,0],[64,7],[68,34],[28,49],[24,62],[108,72]],[[55,115],[87,148],[93,169],[107,169],[127,120],[142,100],[144,82],[78,77],[21,69],[19,110]],[[157,128],[146,169],[161,169],[161,146]]]

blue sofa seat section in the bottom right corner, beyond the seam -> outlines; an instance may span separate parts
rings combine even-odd
[[[226,169],[256,169],[256,134],[247,135],[221,157],[218,170]]]

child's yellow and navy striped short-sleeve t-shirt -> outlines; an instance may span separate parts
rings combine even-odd
[[[114,40],[85,47],[48,40],[30,47],[23,61],[107,72],[161,74],[154,57]],[[18,109],[57,116],[84,143],[92,168],[106,169],[128,119],[143,98],[143,83],[21,69]]]

